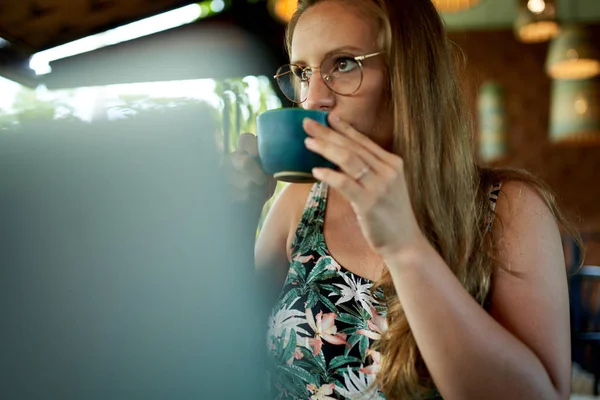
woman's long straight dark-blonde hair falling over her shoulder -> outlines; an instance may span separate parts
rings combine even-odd
[[[311,6],[331,0],[300,0],[286,30],[291,50],[294,28]],[[349,2],[381,26],[387,54],[393,151],[406,165],[418,224],[464,288],[487,307],[495,268],[487,232],[489,191],[495,182],[523,181],[536,188],[555,218],[577,236],[561,215],[547,186],[519,170],[478,166],[472,118],[458,83],[457,58],[430,0],[335,0]],[[377,347],[377,375],[389,399],[420,398],[435,389],[389,273],[375,285],[388,302],[388,330]]]

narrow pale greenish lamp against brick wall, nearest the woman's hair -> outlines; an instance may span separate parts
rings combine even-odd
[[[492,81],[483,83],[477,96],[477,110],[479,156],[486,162],[499,160],[508,152],[504,87]]]

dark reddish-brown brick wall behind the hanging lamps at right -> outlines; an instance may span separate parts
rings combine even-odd
[[[592,31],[600,43],[600,25]],[[538,175],[555,190],[579,229],[600,231],[600,144],[564,147],[548,140],[548,44],[522,44],[509,30],[452,32],[450,38],[467,59],[465,79],[474,113],[481,83],[495,80],[506,88],[510,153],[498,165]],[[590,246],[588,253],[588,263],[600,264],[600,246]]]

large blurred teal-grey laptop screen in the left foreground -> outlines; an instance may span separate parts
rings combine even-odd
[[[264,399],[215,137],[189,110],[0,131],[0,398]]]

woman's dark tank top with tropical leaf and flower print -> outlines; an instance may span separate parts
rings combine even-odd
[[[380,288],[372,294],[374,282],[348,271],[329,253],[323,236],[326,202],[327,185],[315,183],[269,317],[270,398],[385,399],[373,385],[381,360],[373,343],[387,329],[384,294]]]

